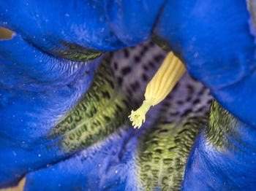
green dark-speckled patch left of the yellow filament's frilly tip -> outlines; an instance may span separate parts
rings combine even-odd
[[[105,58],[94,74],[88,92],[62,118],[51,136],[63,136],[66,151],[88,147],[120,128],[130,111],[129,98],[118,88]]]

